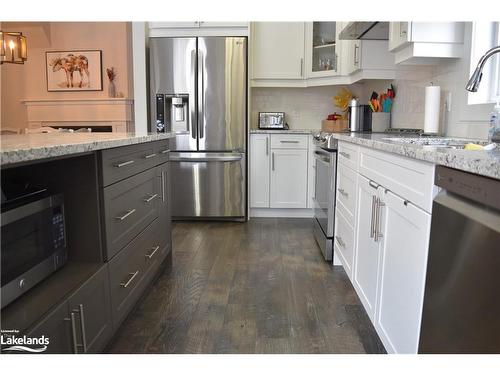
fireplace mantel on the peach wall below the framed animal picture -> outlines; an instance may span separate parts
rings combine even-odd
[[[111,126],[133,131],[133,104],[127,98],[25,99],[30,128],[42,126]]]

